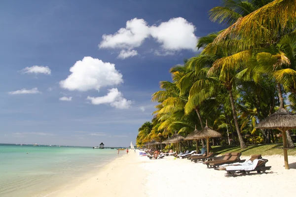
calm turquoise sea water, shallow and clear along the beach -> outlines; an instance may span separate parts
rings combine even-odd
[[[117,157],[116,149],[0,144],[0,197],[46,197]]]

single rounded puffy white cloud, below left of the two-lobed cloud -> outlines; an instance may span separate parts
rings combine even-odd
[[[92,57],[84,57],[70,68],[70,74],[60,81],[60,86],[70,91],[99,90],[101,87],[114,86],[123,83],[122,74],[115,65],[104,63]]]

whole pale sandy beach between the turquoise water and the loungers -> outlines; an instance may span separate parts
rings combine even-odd
[[[290,170],[285,170],[283,156],[263,158],[272,166],[267,174],[253,172],[228,177],[225,171],[208,169],[204,164],[187,159],[149,160],[131,151],[107,164],[93,177],[57,191],[53,197],[278,197],[294,194],[296,157],[289,156]]]

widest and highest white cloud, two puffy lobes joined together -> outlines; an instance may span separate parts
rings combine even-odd
[[[167,53],[156,52],[155,55],[173,55],[174,51],[183,49],[196,51],[198,38],[194,31],[194,25],[182,17],[172,18],[158,26],[148,26],[144,19],[134,18],[127,21],[126,27],[119,29],[116,33],[104,34],[99,47],[122,49],[118,58],[125,59],[137,55],[138,52],[132,49],[140,47],[146,38],[152,37],[161,44],[162,50],[168,51]]]

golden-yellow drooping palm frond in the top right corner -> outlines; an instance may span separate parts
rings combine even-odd
[[[259,1],[259,0],[258,0]],[[266,1],[267,2],[267,1]],[[246,44],[273,44],[278,35],[295,26],[296,0],[273,0],[252,13],[238,18],[215,39],[215,43],[241,37]]]

